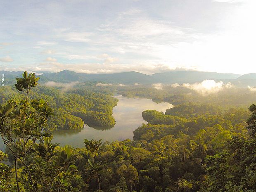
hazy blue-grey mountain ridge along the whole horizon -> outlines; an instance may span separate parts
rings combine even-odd
[[[6,78],[15,78],[21,76],[21,71],[0,71],[5,74]],[[100,81],[105,83],[123,83],[123,84],[152,84],[152,83],[196,83],[204,81],[205,79],[231,82],[235,85],[241,86],[256,86],[256,73],[249,73],[244,75],[234,73],[217,73],[204,71],[167,71],[164,73],[154,73],[146,75],[135,71],[121,72],[121,73],[105,73],[105,74],[89,74],[76,73],[74,71],[63,70],[57,73],[45,72],[39,75],[41,82],[55,81],[58,83],[70,83],[74,81]],[[14,79],[15,80],[15,79]]]

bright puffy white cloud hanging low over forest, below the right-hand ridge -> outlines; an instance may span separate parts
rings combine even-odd
[[[182,85],[185,88],[194,90],[201,95],[209,95],[211,93],[217,93],[221,90],[232,88],[233,85],[231,83],[223,83],[222,81],[216,82],[214,80],[204,80],[201,83],[183,83]]]

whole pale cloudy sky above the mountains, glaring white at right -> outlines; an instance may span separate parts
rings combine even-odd
[[[256,72],[255,0],[1,0],[0,70]]]

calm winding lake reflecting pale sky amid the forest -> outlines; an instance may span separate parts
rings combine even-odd
[[[133,139],[133,131],[140,127],[143,120],[141,113],[146,109],[156,109],[156,111],[165,112],[166,109],[173,107],[169,103],[154,103],[145,98],[127,98],[123,96],[114,96],[119,99],[116,107],[113,109],[113,116],[116,124],[113,128],[105,130],[84,126],[81,130],[56,130],[53,131],[53,142],[60,143],[61,146],[71,145],[73,147],[84,147],[83,140],[114,141]],[[0,140],[0,150],[5,151],[5,145]]]

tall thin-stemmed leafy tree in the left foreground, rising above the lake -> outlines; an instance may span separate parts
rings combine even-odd
[[[22,76],[16,79],[15,87],[25,93],[26,99],[9,100],[5,106],[0,104],[0,135],[14,156],[17,192],[20,192],[20,185],[26,191],[50,192],[65,188],[65,183],[72,191],[65,173],[74,163],[73,149],[51,143],[52,135],[45,133],[44,126],[53,115],[52,108],[42,99],[28,100],[39,78],[26,71]],[[18,163],[22,177],[18,175]],[[61,180],[64,180],[63,185]]]

